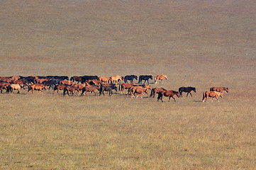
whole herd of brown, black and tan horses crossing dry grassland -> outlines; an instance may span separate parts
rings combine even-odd
[[[133,80],[138,80],[138,84],[133,83]],[[104,95],[104,91],[108,93],[108,96],[113,95],[114,91],[121,91],[121,94],[125,94],[125,90],[127,90],[126,96],[131,96],[132,98],[138,98],[140,96],[143,98],[143,94],[148,94],[148,91],[151,90],[150,97],[154,98],[157,94],[157,101],[163,102],[163,97],[168,97],[176,99],[174,96],[182,97],[182,93],[187,93],[187,97],[192,96],[191,92],[194,91],[196,93],[196,88],[192,86],[187,87],[180,87],[179,91],[173,90],[166,90],[163,88],[151,88],[149,80],[153,79],[152,75],[140,75],[139,77],[135,75],[126,75],[125,77],[121,76],[111,76],[111,77],[97,77],[97,76],[81,76],[81,77],[69,77],[67,76],[29,76],[29,77],[22,77],[22,76],[12,76],[12,77],[0,77],[0,90],[1,94],[3,93],[4,89],[6,93],[13,93],[13,91],[18,91],[17,94],[21,93],[21,89],[28,89],[27,94],[29,91],[33,94],[33,91],[38,91],[38,94],[43,93],[43,90],[53,90],[53,94],[55,91],[59,93],[60,90],[63,91],[63,96],[66,94],[69,96],[72,94],[80,94],[83,96],[84,93],[87,96],[88,92],[90,95],[94,93],[97,94],[96,91],[99,91],[99,96]],[[168,79],[166,75],[157,75],[155,76],[155,84],[160,84],[159,80],[163,84],[164,79]],[[123,81],[123,83],[122,83]],[[130,82],[129,82],[130,81]],[[144,81],[144,82],[143,82]],[[145,84],[145,83],[148,84]],[[119,88],[118,88],[119,85]],[[218,100],[218,96],[221,98],[223,97],[223,91],[228,93],[228,88],[223,86],[213,86],[210,88],[209,91],[204,91],[202,101],[207,102],[207,98],[211,97],[212,101],[213,98]]]

